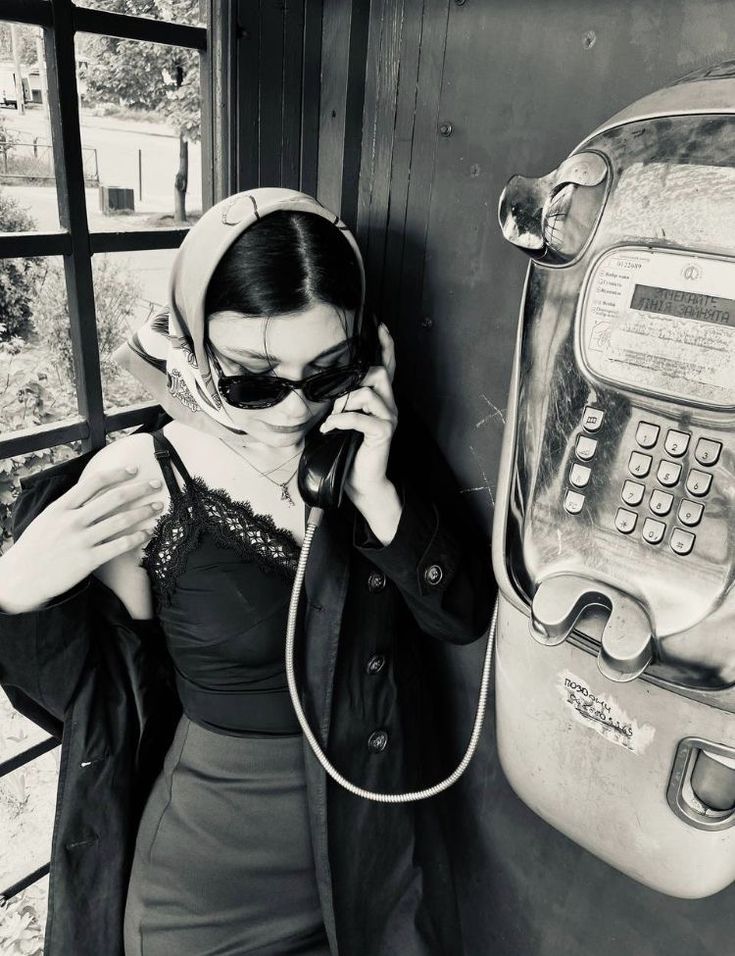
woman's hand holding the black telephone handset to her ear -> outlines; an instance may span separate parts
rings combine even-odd
[[[364,438],[347,476],[345,494],[365,517],[375,536],[387,544],[398,526],[401,503],[395,486],[386,476],[390,445],[398,425],[398,409],[393,397],[395,346],[382,322],[378,326],[378,340],[381,364],[371,365],[359,388],[337,399],[319,430],[327,432],[338,428],[362,432]]]

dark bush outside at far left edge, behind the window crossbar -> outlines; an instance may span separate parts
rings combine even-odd
[[[0,232],[29,232],[35,228],[33,217],[0,190]],[[0,342],[29,332],[31,303],[42,270],[40,259],[0,259]]]

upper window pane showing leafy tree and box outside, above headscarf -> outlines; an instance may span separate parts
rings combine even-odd
[[[90,230],[195,221],[202,208],[199,54],[81,34],[77,64],[82,145],[99,177],[99,188],[87,190]]]

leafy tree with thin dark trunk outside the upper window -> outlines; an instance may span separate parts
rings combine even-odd
[[[115,13],[156,19],[174,19],[173,0],[108,0]],[[176,0],[177,21],[196,22],[199,0]],[[131,109],[147,110],[167,117],[179,136],[179,168],[174,179],[174,218],[186,222],[186,190],[189,182],[189,143],[201,137],[199,54],[195,50],[94,37],[88,40],[94,60],[87,75],[87,99],[115,99]]]

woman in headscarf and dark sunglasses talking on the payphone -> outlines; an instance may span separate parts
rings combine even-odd
[[[366,361],[363,299],[354,239],[314,200],[253,190],[213,207],[177,254],[165,327],[115,354],[171,421],[95,455],[6,556],[16,585],[23,559],[47,563],[36,606],[91,568],[165,638],[182,712],[135,835],[125,956],[462,952],[439,815],[327,786],[286,686],[312,430],[364,436],[315,538],[302,618],[303,703],[333,762],[371,789],[434,782],[420,642],[470,642],[490,618],[489,557],[456,489],[436,463],[422,475],[413,428],[393,441],[393,345],[381,326],[382,362]],[[141,480],[113,488],[124,461]],[[67,536],[59,568],[53,521],[70,511],[81,557]]]

